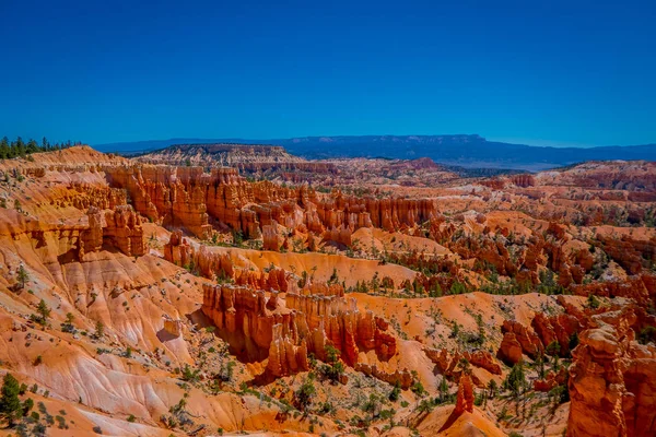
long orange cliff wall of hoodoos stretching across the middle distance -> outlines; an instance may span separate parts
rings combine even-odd
[[[211,234],[210,222],[248,238],[265,234],[265,246],[278,250],[279,225],[350,245],[360,227],[396,231],[415,226],[436,213],[427,199],[374,199],[335,192],[319,198],[305,186],[284,188],[248,182],[234,168],[164,167],[153,165],[105,168],[112,186],[125,188],[134,209],[171,227],[186,227],[199,237]]]

